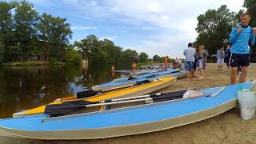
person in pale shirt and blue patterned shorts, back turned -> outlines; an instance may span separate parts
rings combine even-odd
[[[193,77],[193,67],[194,67],[194,55],[195,55],[195,50],[192,47],[192,43],[190,42],[188,44],[188,48],[184,50],[185,55],[185,67],[186,67],[186,75],[187,78],[192,78]]]

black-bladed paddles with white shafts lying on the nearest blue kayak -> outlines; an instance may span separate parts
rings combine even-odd
[[[58,115],[58,114],[66,114],[72,110],[79,110],[79,109],[90,107],[90,106],[103,106],[103,105],[111,105],[111,104],[118,104],[118,103],[149,101],[149,100],[153,100],[154,102],[160,102],[160,101],[166,101],[170,99],[182,98],[185,92],[186,90],[177,90],[177,91],[166,92],[166,93],[147,94],[147,95],[131,97],[131,98],[109,99],[109,100],[99,101],[99,102],[87,102],[83,100],[63,102],[62,104],[46,105],[46,109],[44,113],[50,114],[50,115]]]

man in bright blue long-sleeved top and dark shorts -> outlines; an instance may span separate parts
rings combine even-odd
[[[250,14],[244,13],[240,16],[241,23],[235,26],[230,33],[230,84],[236,82],[238,66],[241,66],[239,82],[246,82],[248,66],[250,65],[250,55],[248,45],[253,46],[256,36],[256,28],[249,25]],[[249,42],[249,43],[248,43]]]

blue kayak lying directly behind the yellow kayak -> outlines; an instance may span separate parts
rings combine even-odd
[[[107,82],[101,85],[96,85],[92,87],[92,90],[108,90],[108,89],[115,89],[118,87],[126,87],[126,86],[133,86],[138,82],[146,82],[147,80],[154,80],[157,78],[164,78],[164,77],[184,77],[186,76],[186,71],[184,70],[180,70],[178,72],[172,73],[172,72],[162,72],[161,74],[150,74],[147,75],[146,77],[142,77],[142,78],[134,78],[134,79],[130,79],[130,80],[125,80],[125,81],[119,81],[119,82]]]

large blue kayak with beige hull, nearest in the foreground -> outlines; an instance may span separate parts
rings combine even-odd
[[[0,134],[18,138],[94,139],[166,130],[232,109],[237,105],[238,88],[253,89],[254,85],[246,82],[213,87],[199,90],[202,95],[193,98],[182,98],[186,90],[154,94],[151,102],[142,99],[143,104],[82,114],[6,118],[0,120]],[[121,102],[125,101],[118,104]]]

